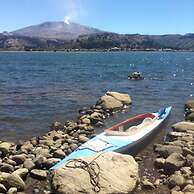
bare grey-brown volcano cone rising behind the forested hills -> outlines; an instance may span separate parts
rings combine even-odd
[[[39,25],[25,27],[11,33],[16,36],[71,40],[78,38],[80,35],[100,32],[101,31],[98,29],[76,23],[45,22]]]

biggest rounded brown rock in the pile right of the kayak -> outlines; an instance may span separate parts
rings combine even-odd
[[[185,164],[184,157],[179,153],[172,153],[165,161],[164,168],[168,173],[179,170]]]

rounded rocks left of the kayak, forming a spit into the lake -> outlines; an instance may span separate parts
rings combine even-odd
[[[51,193],[49,169],[131,103],[128,94],[107,92],[96,105],[80,110],[77,121],[54,122],[44,136],[17,145],[0,141],[0,193]]]

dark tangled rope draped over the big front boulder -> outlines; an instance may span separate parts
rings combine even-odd
[[[102,153],[101,153],[102,154]],[[98,157],[100,157],[99,154],[97,157],[95,157],[91,162],[86,162],[83,159],[72,159],[67,162],[65,165],[68,168],[80,168],[88,172],[90,176],[90,183],[93,186],[93,191],[98,193],[100,191],[100,166],[95,161]]]

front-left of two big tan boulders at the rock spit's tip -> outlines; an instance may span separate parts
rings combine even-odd
[[[102,96],[99,104],[103,109],[119,110],[123,107],[123,103],[112,96]]]

